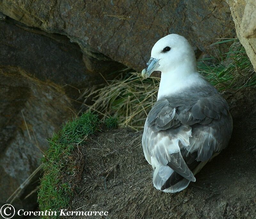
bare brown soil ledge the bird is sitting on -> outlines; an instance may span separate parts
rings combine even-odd
[[[80,157],[80,172],[70,210],[108,211],[108,216],[69,218],[256,218],[256,89],[223,96],[233,116],[232,138],[195,183],[175,194],[156,190],[142,132],[104,131],[74,154]]]

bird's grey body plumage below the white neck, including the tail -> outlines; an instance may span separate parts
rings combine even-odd
[[[142,137],[144,155],[156,168],[155,187],[175,192],[195,181],[193,169],[225,148],[231,133],[228,104],[209,84],[159,99],[148,114]]]

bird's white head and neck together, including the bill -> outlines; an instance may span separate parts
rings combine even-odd
[[[181,92],[188,87],[199,87],[208,82],[196,69],[196,56],[185,37],[169,34],[158,40],[151,50],[144,78],[154,71],[161,71],[157,100]]]

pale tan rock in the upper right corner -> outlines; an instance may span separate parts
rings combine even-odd
[[[230,5],[236,34],[256,70],[256,2],[226,0]]]

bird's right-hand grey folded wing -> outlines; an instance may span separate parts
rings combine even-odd
[[[210,159],[214,152],[220,152],[228,145],[232,117],[228,103],[220,94],[199,99],[192,107],[180,112],[179,120],[192,127],[192,138],[187,149],[191,153],[198,152],[198,161]]]

